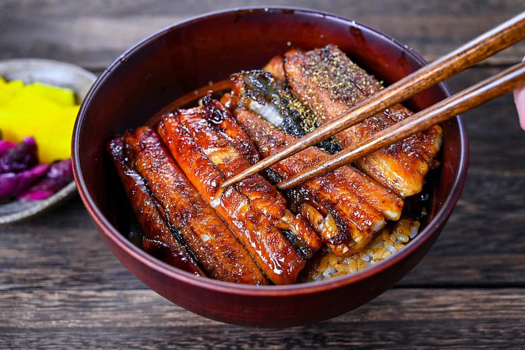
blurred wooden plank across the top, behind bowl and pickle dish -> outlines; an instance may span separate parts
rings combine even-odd
[[[0,3],[0,59],[44,57],[100,69],[131,45],[159,29],[209,11],[254,6],[251,1],[194,2],[167,0],[91,2],[7,0]],[[413,2],[323,2],[270,0],[268,5],[309,7],[351,18],[379,29],[434,60],[525,9],[519,0],[439,0]],[[408,19],[408,20],[407,20]],[[507,65],[519,61],[525,43],[487,60]]]

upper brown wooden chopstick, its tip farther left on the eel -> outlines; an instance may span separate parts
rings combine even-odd
[[[328,139],[328,137],[392,107],[396,103],[403,102],[416,93],[456,75],[460,71],[517,43],[523,38],[525,38],[525,12],[487,31],[485,34],[478,36],[429,65],[418,69],[390,87],[377,92],[370,98],[355,105],[349,112],[319,126],[313,132],[304,135],[277,153],[264,158],[245,171],[227,179],[221,187],[225,188],[233,185],[282,161],[286,157]]]

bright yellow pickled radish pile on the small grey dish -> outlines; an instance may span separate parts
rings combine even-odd
[[[40,83],[22,84],[14,93],[13,88],[4,90],[11,83],[0,84],[0,130],[4,139],[20,142],[24,136],[35,137],[40,163],[69,158],[80,107],[74,104],[74,93]],[[2,103],[3,99],[7,102]]]

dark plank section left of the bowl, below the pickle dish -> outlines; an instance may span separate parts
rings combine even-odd
[[[80,198],[0,229],[0,292],[146,288],[102,241]]]

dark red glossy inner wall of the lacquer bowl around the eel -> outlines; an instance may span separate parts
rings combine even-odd
[[[210,81],[260,68],[291,47],[313,49],[330,43],[386,84],[424,64],[411,49],[353,21],[309,10],[262,8],[188,20],[145,39],[113,62],[82,106],[73,144],[77,182],[99,225],[109,223],[105,234],[125,234],[132,225],[120,182],[104,154],[112,135],[144,124],[174,99]],[[418,94],[407,105],[420,110],[446,96],[440,85]],[[458,119],[442,126],[442,166],[430,179],[435,185],[427,220],[430,225],[457,184],[464,156],[460,150],[466,141]],[[424,230],[420,236],[430,234]],[[159,266],[171,269],[160,262]]]

